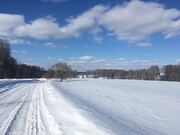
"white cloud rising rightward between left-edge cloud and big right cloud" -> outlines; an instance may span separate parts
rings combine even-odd
[[[66,19],[67,24],[61,26],[55,18],[46,17],[32,21],[14,29],[19,37],[32,37],[37,39],[62,39],[78,37],[85,30],[94,29],[97,25],[96,19],[100,17],[106,8],[95,6],[83,14]]]

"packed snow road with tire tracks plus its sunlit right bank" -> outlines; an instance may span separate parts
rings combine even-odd
[[[84,117],[49,81],[19,83],[0,94],[0,135],[96,134],[109,133]]]

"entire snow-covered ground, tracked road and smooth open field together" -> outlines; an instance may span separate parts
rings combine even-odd
[[[0,80],[0,135],[179,135],[180,83]]]

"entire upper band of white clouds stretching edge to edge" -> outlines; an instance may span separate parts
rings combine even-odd
[[[77,38],[83,32],[88,32],[95,41],[102,42],[103,37],[98,34],[107,32],[118,40],[137,43],[155,33],[161,33],[165,38],[179,36],[179,17],[178,9],[167,9],[162,4],[140,0],[116,6],[94,6],[76,17],[66,19],[65,25],[60,25],[52,17],[27,23],[22,15],[0,14],[0,36],[62,39]]]

